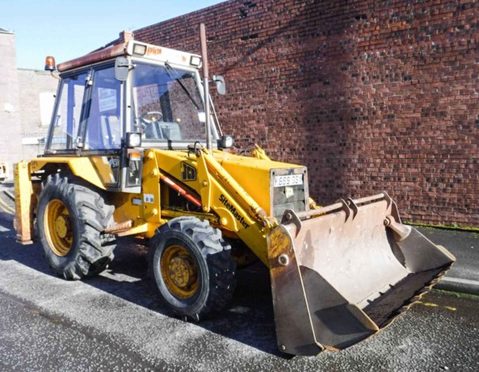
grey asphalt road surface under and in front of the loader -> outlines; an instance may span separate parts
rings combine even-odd
[[[375,337],[339,353],[276,349],[268,273],[239,272],[232,306],[199,324],[171,317],[124,242],[109,269],[54,276],[0,212],[0,371],[478,371],[479,298],[432,292]]]

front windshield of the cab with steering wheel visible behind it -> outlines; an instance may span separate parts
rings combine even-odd
[[[203,99],[194,72],[138,62],[132,74],[133,130],[143,133],[143,141],[206,141]]]

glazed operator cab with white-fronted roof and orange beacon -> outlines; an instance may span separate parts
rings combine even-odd
[[[44,156],[89,156],[105,187],[141,192],[143,149],[207,142],[200,67],[199,55],[134,40],[59,64]],[[52,57],[46,69],[55,70]],[[217,148],[221,131],[214,108],[213,114]]]

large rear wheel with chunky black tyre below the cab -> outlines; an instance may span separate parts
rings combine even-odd
[[[114,224],[114,207],[88,187],[49,175],[37,208],[44,256],[57,275],[82,279],[101,273],[113,258],[116,240],[103,231]]]

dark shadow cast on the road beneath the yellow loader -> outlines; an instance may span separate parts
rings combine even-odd
[[[13,260],[41,273],[54,276],[38,243],[23,246],[15,243],[15,232],[8,216],[0,216],[0,260]],[[146,249],[131,240],[120,241],[115,259],[100,276],[84,280],[106,293],[172,316],[157,294],[156,284],[147,275]],[[199,327],[258,350],[285,357],[277,350],[269,273],[257,263],[237,273],[238,285],[228,310],[212,319],[197,323]],[[61,279],[58,279],[61,280]]]

